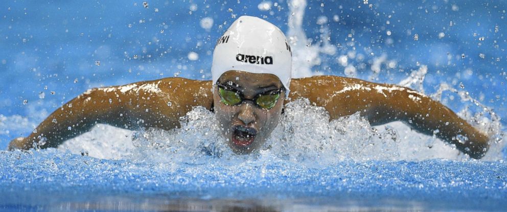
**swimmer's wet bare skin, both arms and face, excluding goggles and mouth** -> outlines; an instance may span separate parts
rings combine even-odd
[[[236,83],[246,99],[261,92],[255,87],[281,87],[280,81],[272,75],[232,71],[220,80]],[[66,139],[89,131],[97,123],[126,129],[156,127],[169,130],[179,127],[179,117],[193,107],[211,110],[214,105],[219,128],[223,128],[228,145],[236,153],[245,154],[259,149],[278,124],[283,105],[298,98],[306,98],[313,105],[324,107],[331,120],[359,113],[372,125],[405,122],[418,132],[435,135],[455,145],[456,149],[473,158],[482,157],[489,148],[488,135],[441,103],[409,88],[354,78],[315,76],[292,79],[290,90],[285,101],[282,101],[285,95],[282,93],[275,107],[263,110],[249,101],[238,106],[222,104],[216,90],[212,92],[211,81],[164,78],[94,88],[55,110],[29,136],[12,140],[9,149],[57,147]],[[250,145],[237,145],[249,144],[245,140],[234,142],[234,129],[238,126],[249,132],[257,131]],[[460,137],[468,139],[459,140]]]

